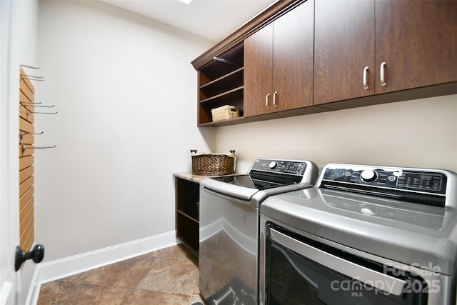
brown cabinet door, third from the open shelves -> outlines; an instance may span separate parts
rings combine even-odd
[[[314,104],[374,94],[374,0],[319,0],[315,6]]]

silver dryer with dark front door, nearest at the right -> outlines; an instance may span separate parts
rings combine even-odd
[[[259,304],[456,304],[451,171],[328,164],[261,205]]]

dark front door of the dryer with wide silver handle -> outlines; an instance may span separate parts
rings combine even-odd
[[[427,304],[418,276],[393,276],[381,264],[268,226],[266,304]]]

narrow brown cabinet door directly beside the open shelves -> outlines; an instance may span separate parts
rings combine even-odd
[[[272,45],[273,24],[244,40],[244,116],[266,113],[273,106]]]

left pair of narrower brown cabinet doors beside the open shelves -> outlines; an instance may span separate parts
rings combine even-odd
[[[313,0],[244,41],[244,116],[313,104]]]

